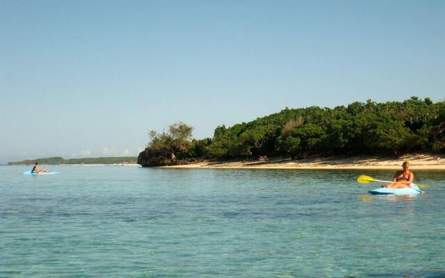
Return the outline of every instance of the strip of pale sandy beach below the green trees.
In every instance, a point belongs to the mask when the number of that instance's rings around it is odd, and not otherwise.
[[[267,161],[223,161],[165,168],[223,168],[223,169],[401,169],[403,161],[410,161],[412,170],[445,170],[444,154],[406,154],[390,156],[315,157],[298,161],[291,158],[270,158]]]

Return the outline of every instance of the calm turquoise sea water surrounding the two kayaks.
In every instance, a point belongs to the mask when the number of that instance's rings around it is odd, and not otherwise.
[[[445,277],[444,171],[48,167],[0,167],[0,277]]]

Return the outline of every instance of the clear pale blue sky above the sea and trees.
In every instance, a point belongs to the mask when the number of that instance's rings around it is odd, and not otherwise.
[[[0,163],[285,107],[445,100],[445,1],[0,0]]]

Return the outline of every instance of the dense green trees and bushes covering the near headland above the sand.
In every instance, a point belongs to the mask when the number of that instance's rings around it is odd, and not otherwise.
[[[149,131],[143,166],[180,165],[232,158],[445,152],[445,101],[412,97],[405,101],[353,102],[348,106],[285,108],[234,126],[218,126],[213,138],[192,138],[193,127],[179,122]]]

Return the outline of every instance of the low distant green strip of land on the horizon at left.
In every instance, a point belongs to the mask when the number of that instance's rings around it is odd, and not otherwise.
[[[70,158],[64,159],[60,156],[49,158],[26,159],[24,161],[8,162],[8,165],[33,165],[35,162],[48,165],[88,165],[88,164],[136,164],[137,157],[91,157],[91,158]]]

